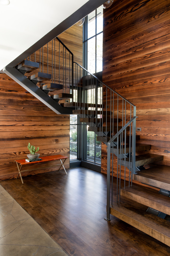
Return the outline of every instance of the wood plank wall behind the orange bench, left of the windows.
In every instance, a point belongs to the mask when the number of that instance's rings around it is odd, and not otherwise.
[[[82,28],[74,25],[60,39],[67,38],[67,34],[69,41],[65,44],[75,55],[78,52],[82,64]],[[56,154],[69,157],[69,115],[57,115],[6,74],[0,74],[0,92],[0,180],[17,176],[14,160],[27,157],[28,142],[39,146],[40,157]],[[52,165],[54,162],[46,163],[43,165],[46,168],[41,165],[42,169],[23,172],[22,176],[59,169]],[[69,166],[70,159],[67,159],[65,167]]]

